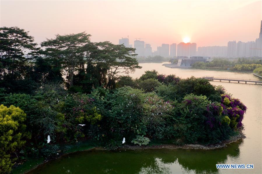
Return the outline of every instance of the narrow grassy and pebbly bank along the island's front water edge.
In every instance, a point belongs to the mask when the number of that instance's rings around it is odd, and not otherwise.
[[[235,136],[232,136],[230,139],[222,141],[220,143],[216,144],[210,144],[210,145],[201,145],[201,144],[185,144],[185,145],[174,145],[174,144],[166,144],[166,143],[152,143],[147,146],[130,146],[130,145],[124,145],[121,148],[118,148],[116,151],[121,152],[121,150],[144,150],[144,149],[202,149],[202,150],[213,150],[217,148],[225,148],[228,144],[236,142],[236,141],[242,141],[242,139],[245,138],[245,134],[243,133],[243,130],[238,131],[238,134]],[[50,158],[40,158],[40,159],[28,159],[23,164],[20,164],[16,168],[14,168],[11,173],[18,174],[18,173],[28,173],[31,170],[34,170],[38,166],[45,164],[51,160],[59,159],[65,155],[75,153],[75,152],[81,152],[81,151],[88,151],[88,150],[103,150],[106,149],[102,146],[85,146],[85,144],[90,144],[89,142],[78,142],[73,145],[71,145],[71,148],[65,151],[64,153],[58,153],[55,157]]]

